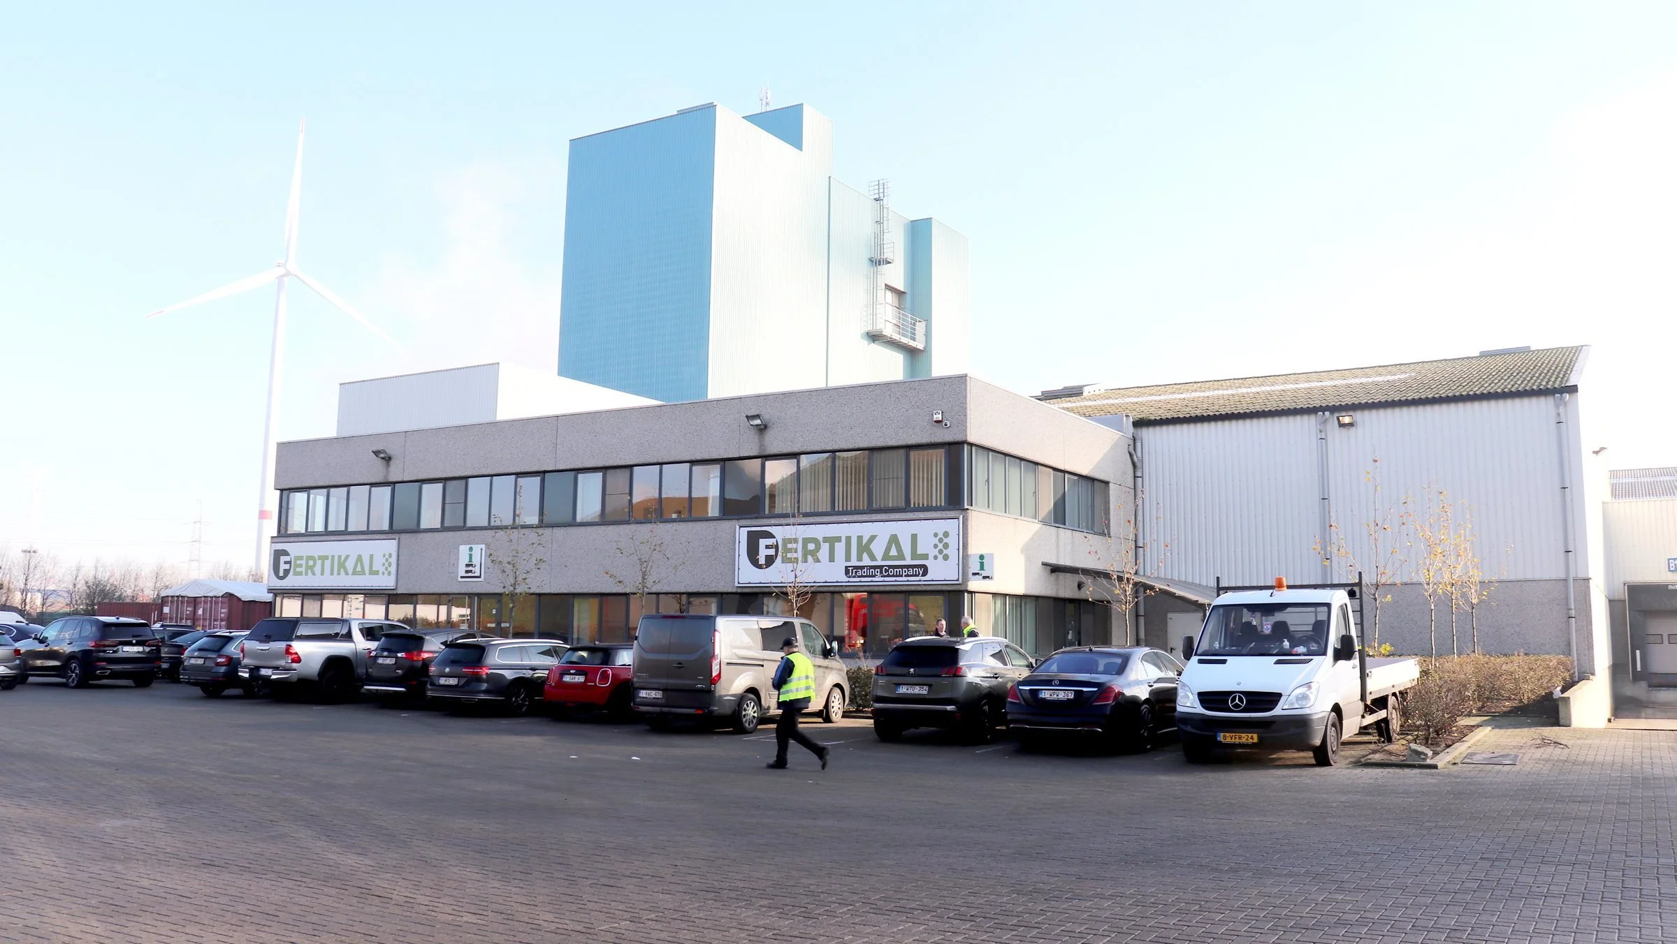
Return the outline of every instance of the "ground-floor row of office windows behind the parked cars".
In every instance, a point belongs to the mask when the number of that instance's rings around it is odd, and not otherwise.
[[[282,617],[386,619],[416,629],[454,627],[506,637],[558,639],[570,646],[632,642],[642,599],[624,594],[538,594],[510,605],[498,594],[280,594]],[[647,614],[793,615],[773,594],[649,594]],[[907,637],[927,635],[939,619],[949,630],[971,615],[979,632],[1031,656],[1063,646],[1115,641],[1107,607],[1088,600],[998,594],[810,594],[797,615],[820,627],[845,657],[882,659]]]

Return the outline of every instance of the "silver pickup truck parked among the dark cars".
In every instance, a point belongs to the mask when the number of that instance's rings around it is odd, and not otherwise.
[[[238,674],[277,696],[310,687],[324,701],[347,701],[367,679],[379,639],[406,629],[374,619],[270,617],[245,637]]]

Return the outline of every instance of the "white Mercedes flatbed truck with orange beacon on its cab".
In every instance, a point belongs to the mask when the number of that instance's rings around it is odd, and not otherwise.
[[[1333,766],[1348,734],[1397,738],[1402,692],[1420,664],[1363,651],[1352,615],[1362,610],[1360,580],[1218,590],[1199,639],[1182,641],[1176,726],[1189,763],[1256,748],[1311,751]]]

